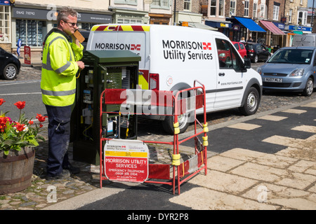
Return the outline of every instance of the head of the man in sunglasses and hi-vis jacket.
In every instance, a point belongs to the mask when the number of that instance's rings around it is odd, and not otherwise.
[[[71,36],[78,29],[77,12],[72,8],[62,8],[57,15],[57,23],[58,29]]]

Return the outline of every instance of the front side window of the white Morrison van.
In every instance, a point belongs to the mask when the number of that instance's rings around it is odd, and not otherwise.
[[[216,38],[216,47],[220,69],[241,70],[242,60],[239,58],[237,51],[232,47],[229,41]]]

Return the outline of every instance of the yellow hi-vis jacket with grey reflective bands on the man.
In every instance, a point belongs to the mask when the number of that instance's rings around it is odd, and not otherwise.
[[[46,36],[41,68],[41,93],[44,104],[70,106],[76,93],[76,61],[82,58],[84,47],[70,43],[67,34],[52,29]]]

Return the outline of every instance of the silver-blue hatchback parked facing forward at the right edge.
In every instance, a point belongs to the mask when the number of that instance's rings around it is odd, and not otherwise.
[[[316,78],[316,48],[280,48],[257,71],[263,80],[263,90],[303,92],[310,97]]]

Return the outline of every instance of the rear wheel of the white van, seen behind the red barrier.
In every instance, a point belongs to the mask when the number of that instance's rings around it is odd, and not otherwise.
[[[190,116],[190,113],[185,113],[178,116],[180,133],[185,132],[185,130],[187,130],[187,127],[189,127],[190,125],[189,116]],[[174,121],[174,116],[166,116],[166,119],[162,121],[162,127],[164,128],[164,131],[167,132],[168,134],[174,134],[173,121]]]

